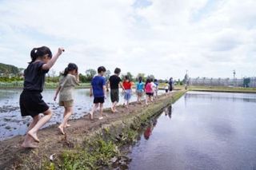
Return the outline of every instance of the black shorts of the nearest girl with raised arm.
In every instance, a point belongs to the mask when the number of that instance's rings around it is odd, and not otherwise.
[[[42,95],[40,92],[26,90],[23,90],[20,95],[19,106],[22,117],[36,117],[39,113],[44,113],[49,109],[46,102],[42,100]]]

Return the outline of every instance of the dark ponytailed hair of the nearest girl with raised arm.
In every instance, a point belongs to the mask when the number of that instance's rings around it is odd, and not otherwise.
[[[47,46],[32,49],[30,52],[31,61],[29,63],[36,61],[38,57],[43,57],[46,54],[48,54],[48,57],[50,58],[53,56],[53,54]]]

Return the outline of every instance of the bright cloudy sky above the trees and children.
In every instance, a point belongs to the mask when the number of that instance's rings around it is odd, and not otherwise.
[[[0,0],[0,62],[66,52],[54,65],[159,78],[256,76],[255,0]]]

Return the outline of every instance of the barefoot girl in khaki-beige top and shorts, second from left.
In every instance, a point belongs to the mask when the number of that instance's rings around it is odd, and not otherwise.
[[[60,78],[54,97],[54,101],[56,101],[59,93],[58,105],[65,108],[62,124],[58,126],[63,135],[65,135],[64,128],[70,126],[67,124],[67,121],[73,113],[73,91],[76,85],[79,85],[78,66],[70,63]]]

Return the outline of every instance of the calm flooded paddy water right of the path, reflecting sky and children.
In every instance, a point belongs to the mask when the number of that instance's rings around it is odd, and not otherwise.
[[[130,153],[129,168],[256,169],[255,99],[245,93],[186,93],[164,109],[154,132],[146,129]]]

